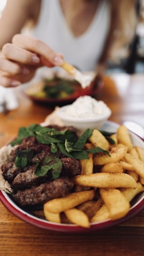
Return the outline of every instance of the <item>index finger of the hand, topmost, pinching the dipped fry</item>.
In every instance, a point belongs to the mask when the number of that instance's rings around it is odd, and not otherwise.
[[[13,37],[13,44],[27,51],[31,51],[36,55],[40,55],[42,57],[41,59],[45,61],[45,64],[47,64],[48,67],[63,65],[63,57],[61,57],[60,54],[55,53],[55,51],[53,51],[53,49],[48,47],[45,43],[34,39],[33,37],[29,37],[27,35],[15,35]]]

